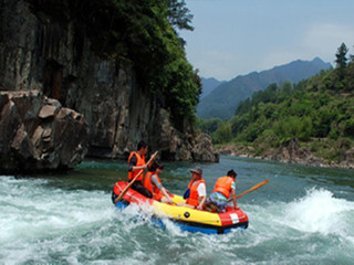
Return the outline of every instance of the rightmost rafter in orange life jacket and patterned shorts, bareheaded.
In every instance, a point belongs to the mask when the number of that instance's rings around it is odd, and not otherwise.
[[[230,194],[232,194],[235,210],[238,209],[235,183],[237,173],[231,169],[227,172],[227,176],[217,180],[215,188],[207,200],[207,211],[225,212]]]

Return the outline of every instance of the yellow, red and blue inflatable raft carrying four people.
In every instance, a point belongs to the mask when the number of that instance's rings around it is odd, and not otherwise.
[[[126,186],[126,181],[117,182],[116,186],[122,192]],[[175,203],[185,202],[183,197],[170,194]],[[175,204],[162,203],[148,199],[135,190],[129,189],[123,199],[116,203],[116,206],[124,209],[131,203],[139,205],[142,211],[148,209],[153,214],[153,219],[158,221],[167,218],[184,231],[201,232],[206,234],[225,234],[233,229],[247,229],[248,216],[241,210],[235,210],[227,206],[225,213],[210,213],[206,211],[195,210],[187,206],[178,206]]]

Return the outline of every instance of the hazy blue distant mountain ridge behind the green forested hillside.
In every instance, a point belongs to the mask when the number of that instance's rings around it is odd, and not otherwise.
[[[201,97],[197,115],[201,118],[231,118],[239,102],[247,99],[254,92],[266,89],[273,83],[279,84],[287,81],[296,83],[316,75],[321,70],[331,67],[330,63],[315,57],[312,61],[298,60],[260,73],[252,72],[248,75],[239,75],[219,85],[209,95]]]

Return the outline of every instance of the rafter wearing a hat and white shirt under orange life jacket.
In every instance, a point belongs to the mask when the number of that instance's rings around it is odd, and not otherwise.
[[[207,187],[205,180],[201,178],[202,169],[196,167],[190,169],[191,181],[188,184],[187,191],[184,198],[187,200],[186,203],[178,203],[177,205],[184,205],[201,210],[207,200]]]

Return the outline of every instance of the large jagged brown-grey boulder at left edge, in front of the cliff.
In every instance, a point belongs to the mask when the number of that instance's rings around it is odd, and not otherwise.
[[[81,114],[38,91],[0,92],[0,174],[72,169],[87,132]]]

